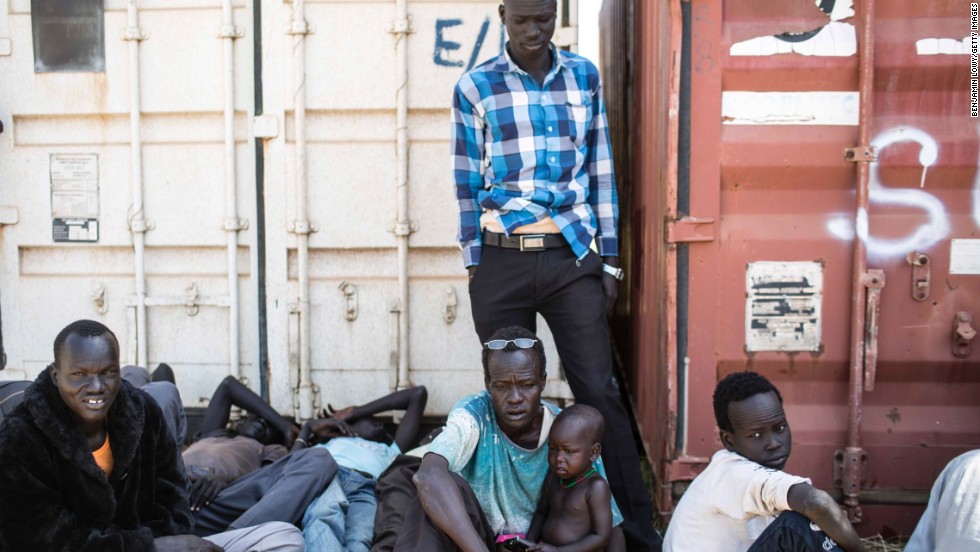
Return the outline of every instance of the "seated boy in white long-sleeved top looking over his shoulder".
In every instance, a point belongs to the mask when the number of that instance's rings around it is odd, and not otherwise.
[[[792,436],[779,390],[755,372],[718,382],[716,452],[681,497],[665,552],[863,552],[834,499],[783,470]]]

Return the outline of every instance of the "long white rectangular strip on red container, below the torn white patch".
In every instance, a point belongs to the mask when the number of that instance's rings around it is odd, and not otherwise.
[[[726,125],[857,126],[858,92],[747,92],[721,94]]]

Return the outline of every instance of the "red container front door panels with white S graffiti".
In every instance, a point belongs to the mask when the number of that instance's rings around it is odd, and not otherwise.
[[[785,400],[786,469],[838,495],[850,477],[859,530],[907,534],[944,464],[980,444],[968,14],[878,2],[862,114],[861,3],[683,4],[690,172],[671,229],[686,322],[668,464],[703,465],[721,448],[714,386],[754,370]],[[856,240],[867,271],[855,287]],[[855,301],[867,305],[859,318]]]

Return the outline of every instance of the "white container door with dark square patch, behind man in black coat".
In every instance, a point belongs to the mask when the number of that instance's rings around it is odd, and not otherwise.
[[[2,377],[90,318],[195,406],[258,380],[251,5],[131,4],[0,2]]]

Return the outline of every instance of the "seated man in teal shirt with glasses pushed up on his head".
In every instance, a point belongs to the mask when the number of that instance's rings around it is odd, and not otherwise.
[[[483,375],[486,390],[457,402],[429,445],[394,550],[494,550],[527,532],[559,411],[541,401],[544,347],[524,328],[498,330],[484,344]],[[596,467],[605,477],[601,460]]]

